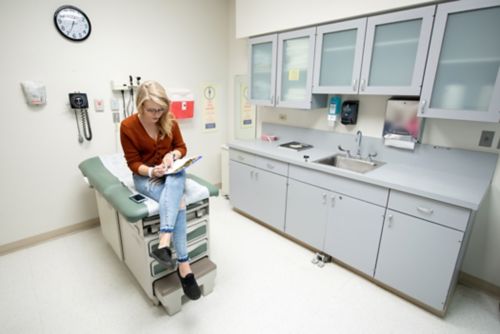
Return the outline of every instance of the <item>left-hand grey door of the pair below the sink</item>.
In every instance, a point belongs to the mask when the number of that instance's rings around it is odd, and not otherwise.
[[[317,249],[323,249],[330,192],[290,179],[285,232]]]

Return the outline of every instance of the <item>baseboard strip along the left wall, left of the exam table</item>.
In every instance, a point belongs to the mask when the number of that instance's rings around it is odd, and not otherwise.
[[[38,234],[29,238],[14,241],[5,245],[0,245],[0,255],[12,253],[17,250],[31,247],[39,243],[59,238],[67,234],[71,234],[82,230],[87,230],[89,228],[96,227],[97,225],[99,225],[99,218],[93,218],[78,224],[61,227],[56,230]]]

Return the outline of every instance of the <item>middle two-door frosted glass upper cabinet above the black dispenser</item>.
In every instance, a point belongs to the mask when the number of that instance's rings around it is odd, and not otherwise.
[[[429,6],[318,27],[313,91],[420,95],[434,11]]]

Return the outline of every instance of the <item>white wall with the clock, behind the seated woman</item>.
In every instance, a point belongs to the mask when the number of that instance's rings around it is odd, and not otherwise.
[[[56,31],[60,0],[0,2],[0,245],[97,217],[93,193],[78,164],[116,152],[110,80],[129,74],[168,87],[191,89],[196,116],[181,121],[192,153],[204,159],[193,172],[220,182],[220,145],[226,140],[227,0],[76,0],[92,22],[92,35],[72,43]],[[48,103],[28,107],[20,82],[45,83]],[[220,85],[219,130],[204,133],[200,85]],[[80,145],[68,93],[105,100],[89,110],[94,139]],[[121,96],[117,95],[120,98]]]

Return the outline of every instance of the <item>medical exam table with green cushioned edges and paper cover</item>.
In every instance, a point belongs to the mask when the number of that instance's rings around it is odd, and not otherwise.
[[[132,173],[121,154],[92,157],[78,166],[94,189],[101,231],[118,258],[139,282],[155,305],[169,315],[180,311],[183,291],[175,269],[168,270],[151,257],[158,247],[158,203],[135,203]],[[216,265],[210,260],[209,197],[218,196],[214,185],[192,174],[186,180],[188,253],[202,294],[212,292]],[[175,249],[173,249],[175,258]]]

